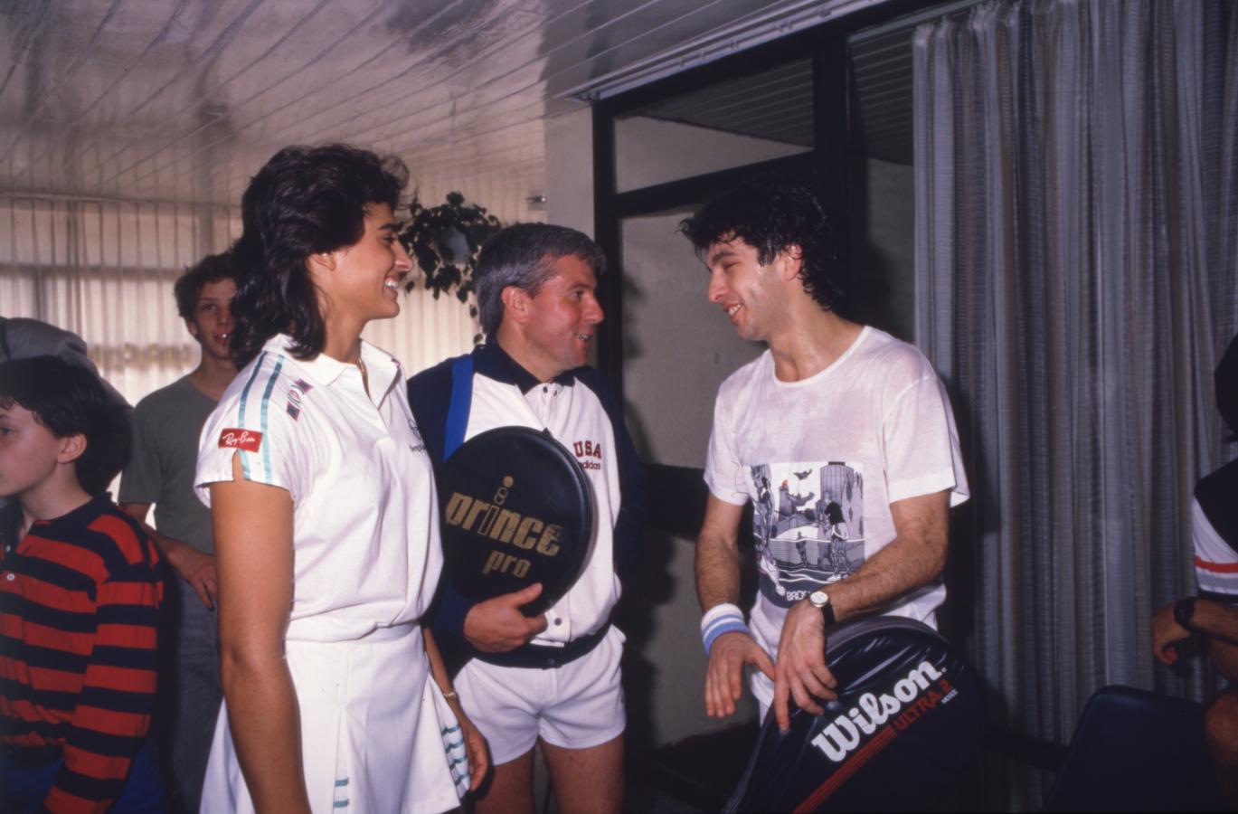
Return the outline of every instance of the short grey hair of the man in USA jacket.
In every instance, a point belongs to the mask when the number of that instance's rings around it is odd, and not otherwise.
[[[517,223],[503,229],[482,247],[473,273],[482,331],[494,336],[503,323],[503,290],[514,285],[537,296],[560,258],[588,263],[595,276],[607,270],[602,249],[583,232],[552,223]]]

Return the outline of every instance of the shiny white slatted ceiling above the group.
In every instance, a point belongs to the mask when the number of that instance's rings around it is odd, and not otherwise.
[[[543,123],[878,0],[0,0],[0,192],[236,203],[279,147],[542,171]]]

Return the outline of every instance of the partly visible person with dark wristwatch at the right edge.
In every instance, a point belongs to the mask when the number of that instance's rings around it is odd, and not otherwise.
[[[1238,336],[1229,342],[1214,375],[1217,410],[1238,440]],[[1153,617],[1153,653],[1165,664],[1177,660],[1177,642],[1203,639],[1212,667],[1238,685],[1238,460],[1200,479],[1191,501],[1196,596],[1166,605]],[[1238,686],[1208,705],[1203,717],[1208,751],[1222,794],[1238,807]]]

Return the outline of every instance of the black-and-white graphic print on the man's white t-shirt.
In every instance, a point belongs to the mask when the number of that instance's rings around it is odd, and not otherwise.
[[[749,475],[758,586],[766,600],[790,607],[864,562],[858,463],[761,463]]]

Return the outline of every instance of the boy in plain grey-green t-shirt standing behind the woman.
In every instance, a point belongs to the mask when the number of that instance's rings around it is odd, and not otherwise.
[[[132,455],[120,481],[123,510],[145,523],[155,504],[151,536],[180,577],[167,579],[161,643],[170,647],[161,648],[166,658],[155,737],[173,809],[182,812],[198,810],[223,696],[210,510],[193,494],[193,473],[202,425],[236,375],[228,356],[235,294],[227,254],[203,259],[176,281],[177,310],[202,347],[202,362],[137,403]]]

